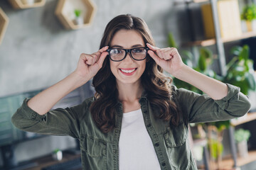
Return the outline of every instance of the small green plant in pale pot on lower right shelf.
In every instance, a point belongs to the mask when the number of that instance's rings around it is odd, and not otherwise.
[[[238,154],[240,157],[248,157],[247,142],[250,137],[250,131],[242,128],[235,130],[235,141],[238,144]]]

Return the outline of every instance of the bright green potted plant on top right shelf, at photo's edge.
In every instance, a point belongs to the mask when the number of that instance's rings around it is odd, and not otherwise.
[[[242,10],[240,17],[241,17],[241,20],[244,21],[244,22],[242,22],[242,25],[246,25],[248,32],[250,32],[252,30],[256,30],[256,6],[255,6],[255,4],[250,4],[250,5],[245,6]]]

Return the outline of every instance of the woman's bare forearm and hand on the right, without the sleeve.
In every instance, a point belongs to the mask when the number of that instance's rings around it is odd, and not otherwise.
[[[228,86],[226,84],[196,72],[196,70],[183,64],[176,48],[160,49],[149,44],[148,47],[150,49],[149,55],[156,61],[156,64],[159,64],[166,72],[169,72],[177,79],[196,86],[196,88],[208,94],[214,100],[219,100],[228,95]]]

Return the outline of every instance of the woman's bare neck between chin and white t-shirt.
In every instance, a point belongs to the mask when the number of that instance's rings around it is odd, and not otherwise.
[[[133,84],[117,83],[117,90],[119,93],[119,101],[135,101],[142,96],[143,87],[141,81]]]

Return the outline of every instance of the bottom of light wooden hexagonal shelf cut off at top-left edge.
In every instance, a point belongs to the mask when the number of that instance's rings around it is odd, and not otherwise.
[[[46,4],[46,0],[34,0],[31,4],[28,4],[28,0],[9,0],[11,6],[14,8],[36,8],[39,6],[44,6]]]

